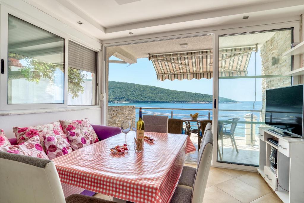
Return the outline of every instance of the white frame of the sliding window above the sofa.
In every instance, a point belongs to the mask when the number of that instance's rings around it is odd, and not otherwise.
[[[44,29],[47,32],[50,32],[54,35],[57,35],[64,39],[64,103],[61,104],[8,104],[8,16],[13,15],[19,19],[22,19],[28,23],[37,26],[38,28]],[[101,49],[87,46],[79,41],[74,40],[74,37],[63,33],[53,27],[48,26],[47,24],[40,22],[37,19],[33,19],[25,14],[18,12],[17,10],[10,9],[4,5],[0,7],[0,59],[4,60],[4,74],[0,73],[0,111],[7,110],[26,110],[26,109],[50,109],[50,108],[61,108],[61,109],[70,109],[73,107],[85,106],[86,108],[96,108],[99,107],[98,102],[98,81],[100,80],[99,68],[100,68],[100,53]],[[67,95],[68,95],[68,41],[71,40],[75,43],[78,43],[82,46],[85,46],[91,50],[97,52],[96,56],[96,73],[95,73],[95,105],[67,105]]]

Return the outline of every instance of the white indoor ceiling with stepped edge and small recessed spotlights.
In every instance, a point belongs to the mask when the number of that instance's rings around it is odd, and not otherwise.
[[[100,40],[299,16],[303,0],[23,0]],[[244,15],[249,19],[242,20]],[[76,22],[84,24],[79,25]],[[129,35],[133,32],[133,35]]]

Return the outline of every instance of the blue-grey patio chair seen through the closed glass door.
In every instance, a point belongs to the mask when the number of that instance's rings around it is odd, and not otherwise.
[[[223,138],[230,138],[232,147],[235,148],[235,150],[237,151],[237,153],[239,153],[239,150],[237,149],[237,143],[235,142],[235,138],[234,138],[234,132],[235,129],[237,128],[237,121],[239,121],[240,118],[233,118],[233,119],[228,119],[226,121],[232,121],[232,122],[227,122],[227,123],[223,123],[223,133],[219,134],[219,139],[222,140],[222,154],[224,153],[223,150]],[[230,126],[230,130],[227,130],[225,126]]]

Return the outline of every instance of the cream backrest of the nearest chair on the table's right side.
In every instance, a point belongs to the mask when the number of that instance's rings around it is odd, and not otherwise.
[[[213,135],[211,130],[206,130],[199,153],[198,167],[195,173],[192,190],[192,203],[203,202],[209,170],[211,166],[213,149]]]

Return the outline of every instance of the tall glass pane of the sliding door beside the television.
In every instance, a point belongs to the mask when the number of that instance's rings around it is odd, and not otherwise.
[[[291,85],[292,29],[219,37],[218,162],[259,165],[258,127],[265,123],[265,90]]]

